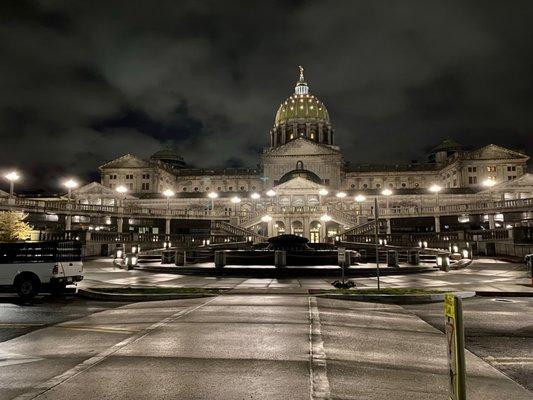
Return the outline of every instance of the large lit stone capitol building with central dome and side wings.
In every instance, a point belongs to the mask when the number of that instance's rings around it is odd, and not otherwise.
[[[149,159],[122,155],[99,167],[100,183],[79,187],[72,195],[82,204],[123,204],[163,215],[125,218],[114,228],[119,231],[190,232],[197,216],[202,221],[225,221],[242,232],[294,233],[321,242],[363,226],[373,217],[375,199],[382,215],[394,217],[406,209],[531,197],[533,192],[526,174],[529,157],[495,144],[466,149],[448,139],[427,154],[426,162],[347,162],[336,142],[334,121],[301,67],[293,92],[279,105],[270,131],[265,131],[265,145],[258,168],[193,168],[171,148]],[[390,218],[385,229],[439,232],[465,222],[464,216],[461,222],[460,215],[433,214],[409,215],[409,223]],[[180,222],[180,216],[188,221]],[[487,222],[480,218],[469,222]],[[512,218],[505,224],[523,223],[524,216]],[[497,219],[489,222],[491,228],[498,226]]]

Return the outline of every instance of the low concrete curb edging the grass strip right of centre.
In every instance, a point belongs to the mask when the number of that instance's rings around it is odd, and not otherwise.
[[[452,292],[461,299],[474,297],[476,292]],[[445,293],[394,295],[394,294],[322,294],[317,297],[336,300],[366,301],[372,303],[417,304],[444,301]]]

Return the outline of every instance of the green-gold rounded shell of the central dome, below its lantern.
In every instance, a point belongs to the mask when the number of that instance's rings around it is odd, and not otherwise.
[[[292,123],[293,120],[321,120],[329,123],[328,110],[324,104],[312,94],[293,94],[285,100],[276,113],[275,125]]]

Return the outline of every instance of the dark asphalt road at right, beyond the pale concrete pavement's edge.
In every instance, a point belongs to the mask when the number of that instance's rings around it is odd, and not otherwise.
[[[444,330],[442,304],[404,306]],[[533,391],[533,298],[463,301],[466,348]]]

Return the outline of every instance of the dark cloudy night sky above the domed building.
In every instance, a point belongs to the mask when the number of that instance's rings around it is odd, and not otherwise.
[[[451,137],[533,154],[533,2],[0,3],[0,170],[97,177],[165,145],[255,166],[303,65],[352,163]]]

